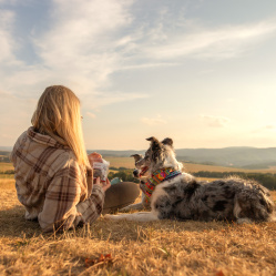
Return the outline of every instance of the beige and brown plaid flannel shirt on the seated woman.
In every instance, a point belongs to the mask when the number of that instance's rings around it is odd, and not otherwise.
[[[33,127],[21,134],[11,153],[18,200],[25,218],[38,218],[44,232],[92,223],[101,214],[104,192],[69,146]]]

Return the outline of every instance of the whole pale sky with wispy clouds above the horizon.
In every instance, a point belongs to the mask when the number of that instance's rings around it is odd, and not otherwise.
[[[0,145],[49,85],[89,150],[276,146],[275,0],[0,0]]]

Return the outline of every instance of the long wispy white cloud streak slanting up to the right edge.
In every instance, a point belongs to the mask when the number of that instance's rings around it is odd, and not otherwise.
[[[222,25],[214,29],[191,27],[193,32],[166,33],[166,39],[157,45],[150,43],[143,48],[146,55],[156,60],[185,58],[228,59],[248,50],[252,43],[275,35],[276,21],[252,24]]]

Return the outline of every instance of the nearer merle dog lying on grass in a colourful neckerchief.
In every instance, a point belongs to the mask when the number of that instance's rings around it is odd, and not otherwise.
[[[177,162],[173,140],[151,142],[144,157],[136,157],[140,177],[147,182],[142,191],[151,202],[150,212],[105,215],[111,219],[151,222],[228,221],[242,223],[275,222],[275,206],[269,191],[253,180],[228,177],[202,182],[183,172]]]

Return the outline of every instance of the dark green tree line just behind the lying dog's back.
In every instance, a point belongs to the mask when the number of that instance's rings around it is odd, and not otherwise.
[[[276,174],[272,173],[244,173],[244,172],[207,172],[200,171],[193,173],[197,177],[223,178],[228,176],[238,176],[246,180],[255,180],[269,190],[276,190]]]

